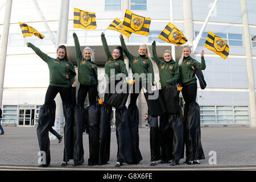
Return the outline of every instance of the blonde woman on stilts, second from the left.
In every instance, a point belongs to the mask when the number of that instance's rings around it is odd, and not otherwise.
[[[82,133],[84,129],[84,102],[88,93],[89,110],[89,159],[88,165],[98,164],[99,152],[99,122],[98,117],[100,109],[96,106],[96,97],[98,95],[98,73],[97,65],[94,63],[94,53],[91,48],[85,47],[81,52],[79,39],[76,33],[73,33],[73,39],[76,47],[77,74],[79,80],[79,92],[77,94],[77,104],[74,109],[74,166],[84,163],[84,147],[82,144]]]

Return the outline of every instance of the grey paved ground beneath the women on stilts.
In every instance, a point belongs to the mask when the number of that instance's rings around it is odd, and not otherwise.
[[[35,127],[4,127],[5,135],[0,135],[0,171],[38,168],[38,140]],[[200,165],[184,164],[171,167],[169,164],[157,164],[150,167],[150,129],[139,129],[140,150],[143,160],[140,164],[124,164],[121,168],[114,168],[117,141],[115,134],[111,135],[110,161],[104,166],[88,167],[89,149],[88,135],[84,134],[84,159],[81,166],[73,167],[73,161],[67,167],[60,167],[63,158],[64,142],[58,144],[58,140],[51,140],[51,165],[48,168],[53,170],[256,170],[256,128],[250,127],[209,127],[201,128],[201,138],[205,154],[205,160]],[[63,130],[62,130],[63,133]],[[209,164],[210,151],[215,151],[217,164]],[[212,161],[212,160],[211,160]]]

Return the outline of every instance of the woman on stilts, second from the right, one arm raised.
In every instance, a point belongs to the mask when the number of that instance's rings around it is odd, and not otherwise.
[[[179,66],[172,59],[171,51],[164,51],[164,61],[160,60],[156,53],[156,43],[152,43],[152,52],[155,63],[158,65],[160,84],[164,96],[168,96],[169,88],[177,89],[177,80],[179,80]],[[172,102],[166,99],[165,102]],[[160,116],[160,163],[167,163],[172,159],[171,166],[179,164],[183,147],[183,119],[182,111],[177,105],[174,111]],[[159,159],[159,158],[158,158]],[[152,163],[152,162],[151,162]]]

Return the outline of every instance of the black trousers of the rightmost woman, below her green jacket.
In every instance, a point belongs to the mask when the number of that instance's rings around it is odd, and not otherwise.
[[[183,85],[181,90],[182,96],[186,104],[196,102],[197,84]]]

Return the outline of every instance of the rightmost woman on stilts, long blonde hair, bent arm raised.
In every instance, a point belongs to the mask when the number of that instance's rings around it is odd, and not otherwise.
[[[191,56],[191,48],[183,47],[183,53],[179,60],[180,79],[179,86],[184,104],[184,142],[187,164],[200,164],[200,159],[205,159],[201,144],[200,129],[200,107],[196,102],[197,82],[195,69],[204,70],[206,68],[204,60],[204,50],[201,51],[201,63]]]

